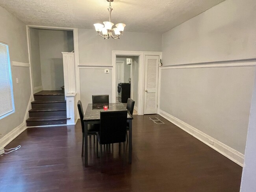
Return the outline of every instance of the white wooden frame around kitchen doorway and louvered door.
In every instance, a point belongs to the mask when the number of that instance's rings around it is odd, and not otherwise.
[[[139,82],[138,82],[138,114],[144,114],[144,79],[145,79],[145,55],[159,55],[162,58],[162,52],[143,52],[143,51],[112,51],[112,102],[115,103],[116,91],[115,91],[115,63],[117,56],[139,56]]]

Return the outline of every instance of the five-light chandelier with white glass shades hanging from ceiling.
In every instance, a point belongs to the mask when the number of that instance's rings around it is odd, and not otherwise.
[[[109,7],[108,7],[108,11],[109,11],[109,22],[108,21],[104,21],[103,24],[100,23],[96,23],[94,24],[95,26],[95,30],[97,31],[97,35],[100,35],[101,37],[103,37],[104,39],[108,39],[109,37],[112,37],[113,39],[119,39],[119,36],[122,35],[122,32],[124,31],[124,27],[125,24],[123,23],[118,23],[116,24],[116,28],[112,29],[112,26],[114,25],[113,23],[111,23],[111,11],[113,10],[111,8],[111,2],[113,2],[114,0],[107,0],[107,2],[109,2]],[[102,33],[102,35],[100,34],[100,32]],[[113,32],[115,33],[115,35],[113,34]]]

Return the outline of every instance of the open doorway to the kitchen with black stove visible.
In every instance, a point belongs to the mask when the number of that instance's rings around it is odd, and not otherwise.
[[[126,105],[127,99],[131,98],[135,101],[133,114],[138,114],[139,56],[117,55],[115,76],[116,102]]]

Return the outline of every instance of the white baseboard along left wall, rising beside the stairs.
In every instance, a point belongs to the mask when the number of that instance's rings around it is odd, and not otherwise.
[[[33,94],[30,95],[30,100],[28,101],[28,106],[27,106],[22,124],[15,127],[12,131],[7,133],[4,137],[0,138],[0,146],[2,147],[7,146],[13,139],[15,139],[18,135],[20,135],[20,133],[22,133],[28,128],[26,126],[26,119],[28,118],[28,111],[31,109],[30,103],[32,102],[32,100],[33,100]]]

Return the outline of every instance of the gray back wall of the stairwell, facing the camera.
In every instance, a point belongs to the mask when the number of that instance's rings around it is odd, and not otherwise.
[[[72,31],[39,30],[42,85],[44,90],[60,90],[64,85],[61,52],[74,50]]]

